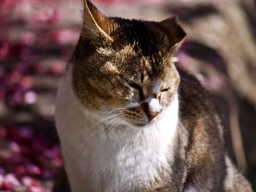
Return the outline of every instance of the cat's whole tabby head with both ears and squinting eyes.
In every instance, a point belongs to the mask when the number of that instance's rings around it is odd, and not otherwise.
[[[173,58],[186,33],[162,22],[107,18],[84,0],[72,85],[87,110],[143,126],[170,106],[180,81]],[[115,116],[113,116],[115,117]]]

